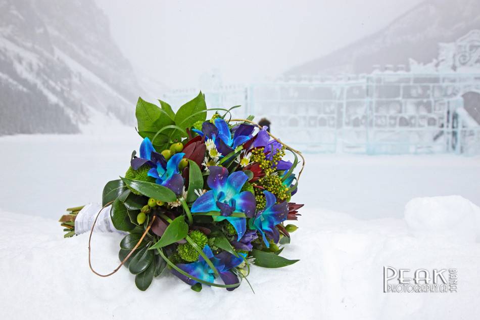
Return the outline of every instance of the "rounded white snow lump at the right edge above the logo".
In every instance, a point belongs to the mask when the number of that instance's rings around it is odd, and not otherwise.
[[[419,238],[475,242],[480,208],[461,196],[414,198],[405,206],[405,220]]]

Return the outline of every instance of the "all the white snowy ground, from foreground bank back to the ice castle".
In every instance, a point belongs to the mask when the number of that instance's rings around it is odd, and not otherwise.
[[[140,292],[123,267],[109,278],[95,276],[88,234],[64,239],[57,220],[66,207],[100,202],[103,185],[123,174],[139,142],[133,129],[0,138],[0,318],[471,319],[480,313],[480,244],[473,238],[479,158],[307,154],[293,198],[306,206],[282,253],[301,260],[280,269],[253,267],[255,294],[246,283],[199,294],[169,274]],[[429,198],[450,195],[459,196]],[[96,270],[118,265],[120,239],[94,234]],[[457,268],[458,292],[383,293],[387,265]]]

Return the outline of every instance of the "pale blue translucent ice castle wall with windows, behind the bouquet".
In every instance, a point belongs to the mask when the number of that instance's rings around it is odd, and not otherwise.
[[[429,64],[374,66],[370,74],[291,76],[223,85],[217,72],[200,87],[209,106],[242,104],[309,152],[480,154],[480,30],[439,44]],[[173,105],[194,89],[165,95]]]

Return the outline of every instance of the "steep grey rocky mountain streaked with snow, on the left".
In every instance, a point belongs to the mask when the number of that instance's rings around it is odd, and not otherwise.
[[[132,124],[141,94],[93,0],[0,0],[0,135]]]

